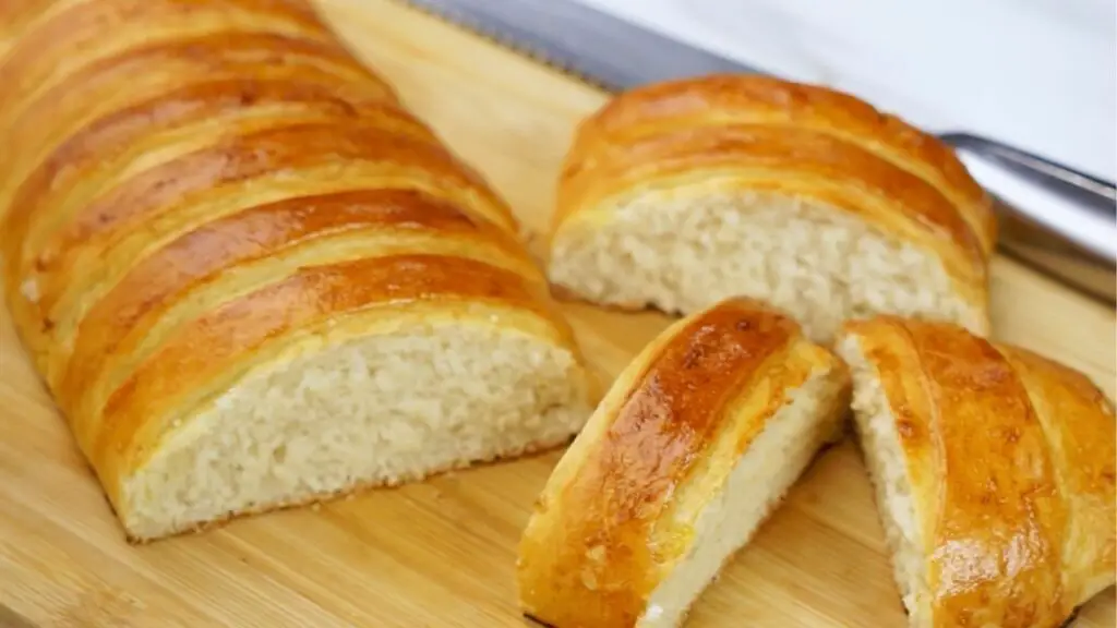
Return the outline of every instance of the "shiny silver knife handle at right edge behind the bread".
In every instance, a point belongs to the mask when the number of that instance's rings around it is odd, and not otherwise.
[[[967,133],[941,136],[996,200],[1005,253],[1117,303],[1117,188],[1110,181]]]

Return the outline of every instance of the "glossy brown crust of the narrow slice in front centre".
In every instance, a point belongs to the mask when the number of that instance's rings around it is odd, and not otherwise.
[[[618,377],[536,502],[519,548],[525,612],[633,626],[787,391],[833,368],[796,323],[752,299],[668,327]]]

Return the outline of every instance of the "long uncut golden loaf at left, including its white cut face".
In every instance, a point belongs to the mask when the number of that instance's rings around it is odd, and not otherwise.
[[[133,540],[564,443],[506,204],[303,0],[0,7],[3,279]]]

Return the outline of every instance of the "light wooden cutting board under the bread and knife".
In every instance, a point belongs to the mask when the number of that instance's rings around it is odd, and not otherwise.
[[[604,95],[392,0],[322,6],[525,227],[541,231],[573,125]],[[993,307],[1000,339],[1079,368],[1114,396],[1111,308],[1004,259],[995,263]],[[668,322],[584,305],[566,312],[605,377]],[[133,548],[6,313],[0,408],[0,627],[527,625],[516,608],[515,546],[557,453]],[[1077,626],[1113,627],[1114,609],[1110,589]],[[689,626],[905,626],[851,444],[813,465]]]

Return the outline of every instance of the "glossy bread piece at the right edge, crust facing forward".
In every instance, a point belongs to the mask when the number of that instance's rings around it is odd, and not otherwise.
[[[1113,402],[945,323],[850,323],[861,447],[915,628],[1056,628],[1114,583]]]

